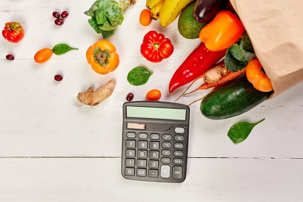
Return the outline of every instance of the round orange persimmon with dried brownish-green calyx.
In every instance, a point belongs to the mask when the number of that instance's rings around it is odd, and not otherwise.
[[[98,74],[107,74],[117,69],[120,59],[116,47],[106,40],[95,42],[86,51],[86,60]]]

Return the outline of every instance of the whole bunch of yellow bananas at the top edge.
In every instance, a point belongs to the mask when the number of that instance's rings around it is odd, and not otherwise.
[[[152,19],[160,18],[161,27],[166,27],[191,1],[193,0],[146,0],[146,7],[151,10]]]

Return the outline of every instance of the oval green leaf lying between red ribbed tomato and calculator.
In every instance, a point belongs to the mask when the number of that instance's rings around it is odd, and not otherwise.
[[[152,72],[144,67],[136,67],[132,69],[128,75],[127,80],[130,84],[139,86],[145,84],[151,77]]]

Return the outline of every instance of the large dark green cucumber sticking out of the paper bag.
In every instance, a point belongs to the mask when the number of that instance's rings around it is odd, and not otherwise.
[[[209,93],[201,102],[201,113],[214,120],[238,116],[267,100],[273,92],[261,92],[244,76]]]

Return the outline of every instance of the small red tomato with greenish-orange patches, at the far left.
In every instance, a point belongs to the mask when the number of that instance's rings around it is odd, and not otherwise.
[[[18,43],[23,39],[24,30],[18,22],[7,22],[2,30],[2,35],[7,41]]]

